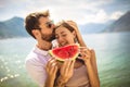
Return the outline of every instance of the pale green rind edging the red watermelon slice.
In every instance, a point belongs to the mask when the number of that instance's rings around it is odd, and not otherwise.
[[[77,46],[77,47],[79,48],[79,44],[74,44],[74,45],[68,45],[68,46]],[[66,46],[66,47],[68,47],[68,46]],[[61,59],[61,58],[56,57],[56,55],[52,52],[52,50],[49,50],[49,53],[50,53],[52,57],[54,57],[56,60],[58,60],[58,61],[65,61],[65,59]],[[73,58],[70,58],[70,60],[75,60],[75,59],[78,57],[78,54],[79,54],[79,52],[77,52]]]

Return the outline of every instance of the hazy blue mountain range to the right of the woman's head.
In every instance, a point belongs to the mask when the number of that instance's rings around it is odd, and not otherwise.
[[[104,24],[79,25],[79,30],[81,34],[130,32],[130,11],[117,21],[109,21]]]

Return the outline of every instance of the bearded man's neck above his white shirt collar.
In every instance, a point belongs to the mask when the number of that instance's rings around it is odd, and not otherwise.
[[[50,41],[42,40],[42,42],[38,42],[37,47],[41,50],[50,50],[52,48],[52,44]]]

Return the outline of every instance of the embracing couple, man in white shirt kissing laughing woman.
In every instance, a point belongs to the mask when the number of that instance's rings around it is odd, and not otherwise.
[[[26,59],[26,69],[39,87],[100,87],[94,50],[86,47],[75,22],[54,25],[46,11],[27,15],[25,27],[37,40]],[[75,42],[82,47],[81,57],[76,60],[61,63],[48,52],[57,45],[64,47]]]

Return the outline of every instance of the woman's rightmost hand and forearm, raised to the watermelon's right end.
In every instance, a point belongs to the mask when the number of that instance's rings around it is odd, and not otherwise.
[[[81,47],[80,53],[81,59],[84,61],[84,64],[87,65],[91,87],[100,87],[100,79],[98,75],[94,50]]]

